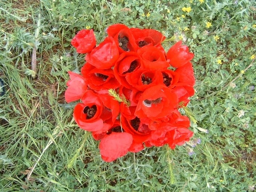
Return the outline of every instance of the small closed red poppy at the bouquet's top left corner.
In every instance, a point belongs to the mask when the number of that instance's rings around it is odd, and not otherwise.
[[[93,30],[80,30],[71,40],[71,44],[78,53],[89,53],[96,45],[96,38]]]

